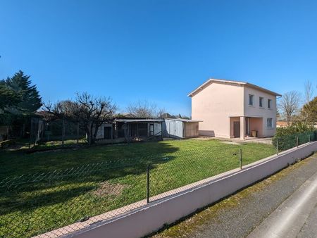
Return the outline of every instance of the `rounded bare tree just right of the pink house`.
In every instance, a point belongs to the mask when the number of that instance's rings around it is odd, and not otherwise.
[[[299,111],[301,96],[299,92],[287,92],[280,99],[279,108],[286,118],[287,124],[290,124],[294,115]]]

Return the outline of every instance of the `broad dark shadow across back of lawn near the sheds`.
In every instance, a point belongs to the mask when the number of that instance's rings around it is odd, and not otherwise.
[[[0,180],[30,173],[49,173],[91,163],[123,161],[127,158],[161,156],[178,151],[159,142],[93,146],[75,150],[46,151],[25,154],[23,151],[0,151]]]

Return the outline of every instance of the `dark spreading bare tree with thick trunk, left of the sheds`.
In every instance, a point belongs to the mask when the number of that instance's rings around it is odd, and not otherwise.
[[[66,119],[79,123],[85,130],[89,144],[96,141],[98,128],[113,118],[116,105],[110,98],[94,97],[87,92],[77,93],[75,101],[59,101],[56,104],[45,105],[51,118]]]

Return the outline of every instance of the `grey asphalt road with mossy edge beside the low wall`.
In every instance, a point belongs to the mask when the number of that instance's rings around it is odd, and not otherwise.
[[[280,171],[267,180],[242,190],[229,199],[193,215],[154,237],[205,238],[247,237],[248,235],[257,237],[254,234],[257,234],[258,237],[260,234],[263,235],[262,237],[270,237],[270,234],[271,237],[283,237],[278,235],[286,235],[287,232],[275,234],[275,230],[271,233],[265,233],[266,229],[263,229],[263,226],[267,225],[267,228],[268,224],[275,225],[278,230],[279,224],[287,224],[288,219],[292,224],[288,224],[288,227],[284,225],[282,228],[282,230],[287,231],[287,228],[292,229],[294,228],[292,225],[299,222],[299,215],[302,216],[300,224],[297,224],[295,229],[296,232],[289,234],[295,235],[295,237],[317,237],[317,199],[314,197],[317,186],[313,185],[316,185],[316,182],[317,154]],[[310,196],[306,196],[304,199],[301,194],[309,191],[311,191]],[[302,202],[297,203],[298,199]],[[286,203],[287,201],[289,203]],[[309,206],[307,206],[308,203]],[[277,211],[282,214],[281,211],[287,209],[287,206],[293,206],[293,211],[297,208],[302,210],[299,213],[292,213],[292,215],[285,212],[286,215],[283,213],[284,217],[278,220]],[[292,218],[290,218],[291,216]],[[268,223],[270,220],[271,223]],[[262,233],[255,233],[259,230]]]

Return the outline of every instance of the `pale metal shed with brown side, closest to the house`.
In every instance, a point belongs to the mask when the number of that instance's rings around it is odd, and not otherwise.
[[[166,118],[164,125],[165,137],[184,139],[198,137],[199,135],[199,120]]]

